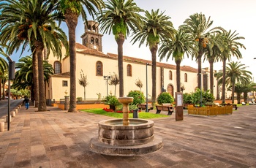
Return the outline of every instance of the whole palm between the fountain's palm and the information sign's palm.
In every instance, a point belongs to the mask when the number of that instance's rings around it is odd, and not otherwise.
[[[170,21],[170,17],[164,15],[164,12],[159,12],[159,9],[151,12],[145,11],[145,17],[143,17],[142,31],[136,29],[133,34],[132,41],[140,41],[139,47],[146,41],[149,50],[151,51],[152,58],[152,103],[154,104],[157,99],[157,49],[159,42],[165,38],[173,38],[173,34],[176,31],[173,28],[173,23]]]

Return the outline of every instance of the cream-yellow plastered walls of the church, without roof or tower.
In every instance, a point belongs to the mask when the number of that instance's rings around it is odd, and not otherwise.
[[[49,57],[48,62],[53,64],[57,58],[53,56]],[[96,76],[96,63],[101,61],[103,64],[103,75],[113,75],[116,73],[118,75],[118,64],[116,58],[91,56],[89,54],[77,52],[76,54],[76,97],[82,97],[84,99],[84,88],[79,84],[78,79],[80,78],[81,69],[84,75],[87,75],[87,80],[89,85],[86,86],[86,99],[98,99],[97,93],[101,93],[101,99],[107,95],[107,85],[106,80],[103,76]],[[127,64],[132,65],[132,77],[127,77]],[[69,58],[64,58],[61,60],[61,68],[63,72],[69,72]],[[169,70],[173,72],[173,80],[169,80]],[[184,82],[184,73],[187,73],[187,82]],[[208,73],[208,72],[207,72]],[[170,83],[173,85],[173,93],[176,92],[176,69],[164,69],[164,88],[167,89],[167,85]],[[135,85],[136,80],[140,79],[143,83],[142,91],[146,96],[146,64],[140,62],[130,62],[124,60],[124,96],[127,96],[129,91],[140,90]],[[62,81],[67,80],[68,86],[62,86]],[[209,77],[208,77],[209,80]],[[202,80],[203,81],[203,80]],[[208,81],[210,83],[210,81]],[[217,81],[214,80],[215,85]],[[161,93],[161,68],[157,67],[157,96]],[[197,72],[183,72],[181,71],[181,84],[185,86],[184,93],[191,93],[195,91],[197,87]],[[209,84],[208,84],[209,85]],[[68,77],[51,77],[49,86],[46,87],[46,99],[64,99],[65,91],[67,90],[67,95],[69,96],[69,86],[70,81]],[[148,66],[148,99],[151,99],[152,92],[152,78],[151,78],[151,66]],[[209,86],[208,86],[209,88]],[[217,95],[217,87],[214,88],[214,96]],[[108,93],[115,94],[115,86],[108,85]],[[116,86],[116,96],[119,93],[119,85]],[[229,96],[230,93],[227,93]]]

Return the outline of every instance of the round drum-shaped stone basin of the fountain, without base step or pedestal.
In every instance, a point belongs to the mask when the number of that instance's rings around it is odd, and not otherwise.
[[[99,122],[99,142],[109,145],[142,145],[154,140],[154,122],[129,119],[129,126],[123,126],[121,119]]]

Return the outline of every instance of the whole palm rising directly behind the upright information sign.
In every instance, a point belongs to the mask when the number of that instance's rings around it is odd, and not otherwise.
[[[176,62],[176,85],[177,92],[181,91],[181,61],[184,59],[184,54],[187,57],[195,56],[197,52],[197,45],[193,37],[181,29],[175,34],[173,39],[165,40],[159,48],[160,61],[166,58],[166,61],[172,56]]]

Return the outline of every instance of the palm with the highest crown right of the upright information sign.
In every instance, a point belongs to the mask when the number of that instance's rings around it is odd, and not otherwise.
[[[194,39],[197,41],[198,75],[200,76],[202,75],[202,56],[208,44],[208,36],[210,31],[208,31],[208,29],[213,23],[213,21],[210,19],[211,17],[206,19],[206,16],[202,13],[195,13],[194,15],[190,15],[189,18],[184,21],[184,25],[180,26],[180,28],[183,28],[185,32],[192,34]],[[202,78],[197,77],[197,80],[197,87],[202,89]]]

